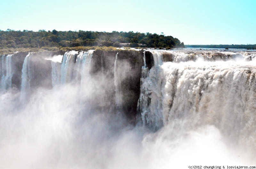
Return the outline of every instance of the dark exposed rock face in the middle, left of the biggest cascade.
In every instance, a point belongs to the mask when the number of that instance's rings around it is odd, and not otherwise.
[[[142,51],[94,51],[93,53],[92,75],[99,74],[99,72],[104,74],[109,83],[106,89],[111,95],[108,98],[109,104],[120,104],[117,105],[118,109],[125,112],[130,119],[134,119],[137,114],[142,66]],[[118,83],[117,88],[113,88],[116,85],[115,80]],[[116,103],[115,99],[118,93],[121,95],[120,103]]]

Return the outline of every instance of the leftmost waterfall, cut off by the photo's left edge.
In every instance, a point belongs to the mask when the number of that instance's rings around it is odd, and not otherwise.
[[[0,89],[5,91],[12,86],[12,56],[0,55]]]

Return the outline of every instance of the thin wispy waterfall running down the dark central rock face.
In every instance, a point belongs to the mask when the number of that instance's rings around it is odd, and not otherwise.
[[[117,55],[116,53],[116,60],[114,63],[114,83],[115,83],[115,91],[116,91],[116,107],[118,108],[121,103],[122,103],[122,93],[121,93],[121,81],[118,76],[118,71],[117,71]]]

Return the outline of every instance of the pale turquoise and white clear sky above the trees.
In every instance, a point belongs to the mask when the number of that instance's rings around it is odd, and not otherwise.
[[[256,0],[0,0],[0,30],[164,33],[185,45],[256,44]]]

